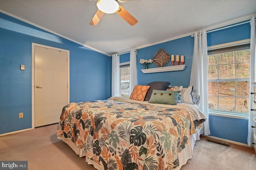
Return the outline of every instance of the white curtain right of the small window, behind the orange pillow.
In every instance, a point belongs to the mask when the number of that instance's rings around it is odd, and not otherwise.
[[[130,51],[130,84],[129,84],[129,96],[132,94],[134,86],[137,84],[137,68],[136,68],[136,50]]]

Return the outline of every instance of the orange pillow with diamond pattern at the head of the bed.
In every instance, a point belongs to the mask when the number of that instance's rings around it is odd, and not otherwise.
[[[150,86],[136,85],[132,91],[130,99],[143,102],[149,88],[150,88]]]

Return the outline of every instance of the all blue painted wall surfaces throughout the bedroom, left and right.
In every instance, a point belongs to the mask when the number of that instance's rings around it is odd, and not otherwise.
[[[250,24],[207,34],[208,46],[250,38]],[[70,50],[70,102],[101,100],[110,96],[111,57],[0,13],[0,134],[31,128],[31,43]],[[143,74],[140,59],[152,59],[158,49],[170,55],[184,55],[183,71]],[[169,81],[172,86],[188,87],[194,38],[191,36],[138,49],[137,81]],[[129,57],[127,57],[127,56]],[[120,57],[127,62],[130,53]],[[101,64],[98,61],[101,60]],[[26,70],[20,70],[25,64]],[[171,62],[167,66],[170,66]],[[150,68],[157,67],[154,63]],[[24,118],[19,119],[18,113]],[[211,135],[247,143],[248,120],[210,115]]]

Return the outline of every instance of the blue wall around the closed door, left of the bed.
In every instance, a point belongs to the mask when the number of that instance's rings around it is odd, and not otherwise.
[[[110,96],[111,57],[0,13],[0,134],[31,128],[31,43],[70,51],[70,102]]]

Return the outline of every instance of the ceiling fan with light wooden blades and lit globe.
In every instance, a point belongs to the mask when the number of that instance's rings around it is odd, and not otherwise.
[[[107,14],[116,13],[120,17],[122,17],[126,22],[128,22],[130,25],[135,25],[138,22],[138,20],[136,20],[129,12],[127,12],[122,6],[118,4],[118,2],[127,2],[130,0],[91,0],[91,1],[97,1],[98,11],[92,18],[92,21],[90,21],[90,25],[97,25],[105,13]]]

